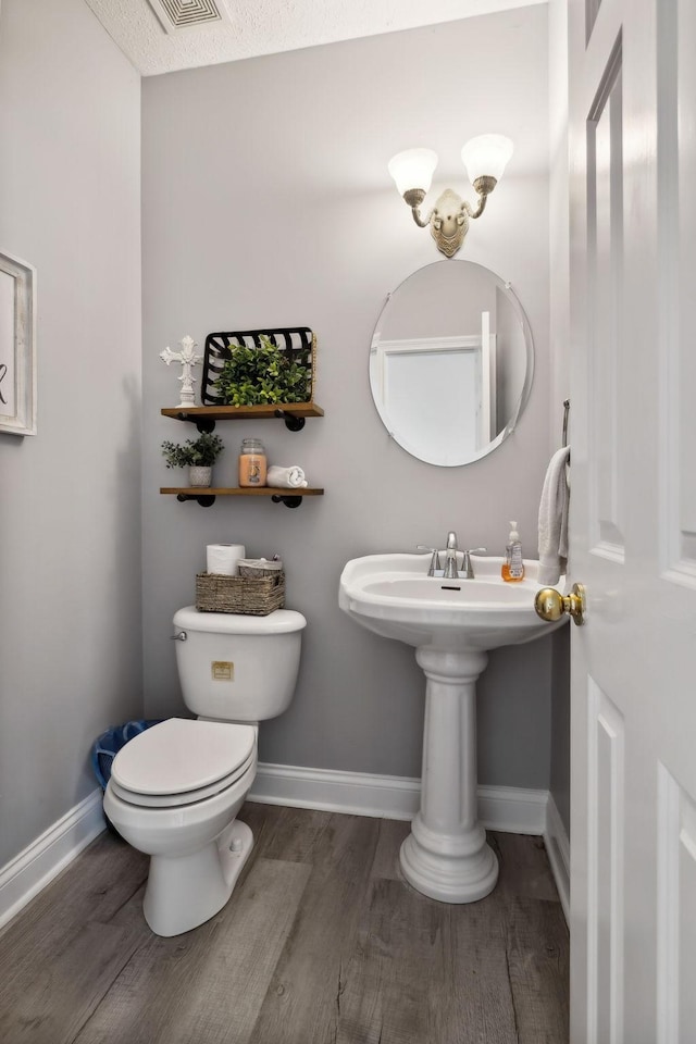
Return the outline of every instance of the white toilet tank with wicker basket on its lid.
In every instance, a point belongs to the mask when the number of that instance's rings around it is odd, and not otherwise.
[[[293,609],[265,617],[199,612],[174,613],[176,664],[184,701],[201,718],[263,721],[287,710],[300,664],[307,620]]]

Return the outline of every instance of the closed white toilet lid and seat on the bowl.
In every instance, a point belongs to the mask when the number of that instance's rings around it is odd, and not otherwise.
[[[228,778],[239,774],[237,770],[247,766],[254,748],[251,725],[167,718],[121,748],[111,766],[111,779],[132,794],[190,794],[214,788],[223,780],[225,785],[232,782]]]

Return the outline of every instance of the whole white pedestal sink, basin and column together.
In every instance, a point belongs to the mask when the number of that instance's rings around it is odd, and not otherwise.
[[[444,903],[481,899],[498,879],[476,818],[476,681],[488,651],[567,620],[535,612],[538,562],[525,560],[524,580],[509,584],[501,558],[471,560],[473,580],[445,580],[427,575],[430,555],[368,555],[346,564],[338,596],[361,626],[414,646],[425,674],[421,808],[400,861],[414,888]]]

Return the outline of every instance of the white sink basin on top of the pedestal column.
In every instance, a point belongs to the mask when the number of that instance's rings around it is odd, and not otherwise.
[[[534,610],[538,562],[525,560],[524,580],[506,583],[501,558],[472,555],[471,561],[473,580],[444,580],[427,575],[430,555],[355,558],[343,571],[338,604],[386,638],[462,651],[520,645],[564,622],[545,623]]]

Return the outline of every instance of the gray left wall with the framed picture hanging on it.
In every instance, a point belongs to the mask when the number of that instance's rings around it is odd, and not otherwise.
[[[139,99],[83,0],[3,0],[0,250],[38,272],[38,434],[0,434],[0,866],[141,709]]]

